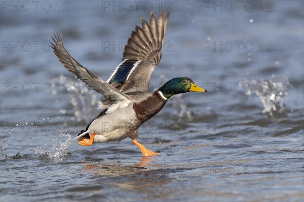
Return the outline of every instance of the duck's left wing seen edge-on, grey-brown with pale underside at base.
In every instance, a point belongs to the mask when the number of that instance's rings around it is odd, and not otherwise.
[[[54,37],[52,36],[52,38],[55,43],[52,43],[52,48],[54,50],[53,52],[63,67],[65,67],[69,72],[76,75],[77,78],[88,84],[93,90],[96,90],[104,96],[111,97],[111,100],[113,100],[113,102],[111,105],[109,105],[106,112],[107,114],[115,111],[116,109],[123,108],[131,102],[128,99],[127,95],[121,93],[118,89],[90,72],[87,68],[79,64],[67,53],[62,42],[62,32],[61,37],[59,37],[57,33],[54,33]]]

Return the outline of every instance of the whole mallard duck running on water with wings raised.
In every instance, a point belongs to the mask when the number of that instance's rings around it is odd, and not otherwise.
[[[103,111],[74,138],[79,140],[80,145],[90,146],[95,142],[120,141],[130,137],[144,157],[160,155],[137,141],[137,129],[154,117],[172,95],[206,91],[186,77],[173,78],[158,90],[148,91],[150,77],[162,56],[169,19],[169,13],[165,19],[163,13],[161,11],[156,20],[152,12],[149,24],[142,18],[142,27],[135,26],[125,46],[122,62],[107,81],[90,72],[67,53],[62,32],[61,37],[57,33],[52,36],[52,48],[63,67],[103,95],[98,102],[98,108]]]

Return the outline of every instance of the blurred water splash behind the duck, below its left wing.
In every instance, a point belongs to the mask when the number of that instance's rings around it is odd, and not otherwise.
[[[87,84],[79,80],[71,80],[65,76],[58,76],[51,79],[52,93],[69,92],[70,103],[73,106],[74,116],[72,121],[90,121],[92,114],[97,115],[97,96]],[[65,109],[60,109],[60,113],[65,114]]]

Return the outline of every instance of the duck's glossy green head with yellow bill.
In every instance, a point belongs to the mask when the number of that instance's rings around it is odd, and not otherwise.
[[[159,89],[166,98],[171,97],[172,95],[194,91],[194,92],[206,92],[204,88],[201,88],[194,84],[191,78],[187,77],[178,77],[171,79],[165,83]]]

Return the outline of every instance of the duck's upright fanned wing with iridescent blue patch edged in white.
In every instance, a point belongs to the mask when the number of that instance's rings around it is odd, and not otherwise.
[[[155,67],[161,60],[161,49],[165,40],[169,19],[167,13],[163,19],[161,11],[156,20],[151,13],[149,24],[141,19],[142,28],[135,26],[125,46],[123,62],[118,65],[110,78],[109,84],[116,84],[121,92],[148,91],[148,85]]]

